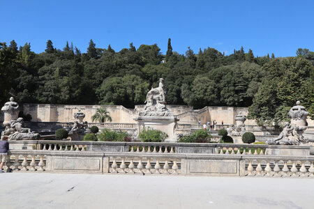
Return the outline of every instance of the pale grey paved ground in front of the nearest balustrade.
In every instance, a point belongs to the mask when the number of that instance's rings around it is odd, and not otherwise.
[[[314,179],[0,173],[0,208],[314,208]]]

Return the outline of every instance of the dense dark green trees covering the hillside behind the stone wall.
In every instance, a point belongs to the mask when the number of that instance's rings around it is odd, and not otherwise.
[[[165,43],[166,44],[166,43]],[[161,63],[165,59],[165,63]],[[313,116],[314,53],[298,49],[296,57],[255,57],[241,47],[225,55],[207,47],[195,54],[167,53],[155,45],[133,43],[115,52],[90,40],[87,53],[69,45],[61,49],[47,41],[45,52],[31,52],[0,42],[0,103],[14,96],[20,103],[144,104],[147,91],[163,77],[168,104],[249,107],[259,123],[283,121],[288,107],[300,100]],[[98,121],[99,119],[95,119]],[[103,120],[100,120],[103,121]]]

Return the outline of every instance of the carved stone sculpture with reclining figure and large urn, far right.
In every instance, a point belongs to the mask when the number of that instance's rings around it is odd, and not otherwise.
[[[307,142],[303,137],[303,132],[307,128],[306,117],[309,113],[299,104],[300,102],[297,101],[297,105],[288,113],[291,117],[290,123],[285,123],[281,134],[276,139],[267,140],[267,144],[299,145]]]

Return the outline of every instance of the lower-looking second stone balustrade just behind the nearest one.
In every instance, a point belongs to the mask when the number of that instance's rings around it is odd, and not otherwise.
[[[10,149],[110,153],[208,153],[218,155],[310,155],[310,146],[114,141],[10,141]]]

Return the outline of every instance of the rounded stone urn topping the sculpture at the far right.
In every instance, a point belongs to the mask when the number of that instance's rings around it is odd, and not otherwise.
[[[291,117],[290,124],[298,127],[307,127],[306,118],[308,116],[306,108],[300,105],[300,101],[297,101],[297,105],[291,107],[288,115]]]

